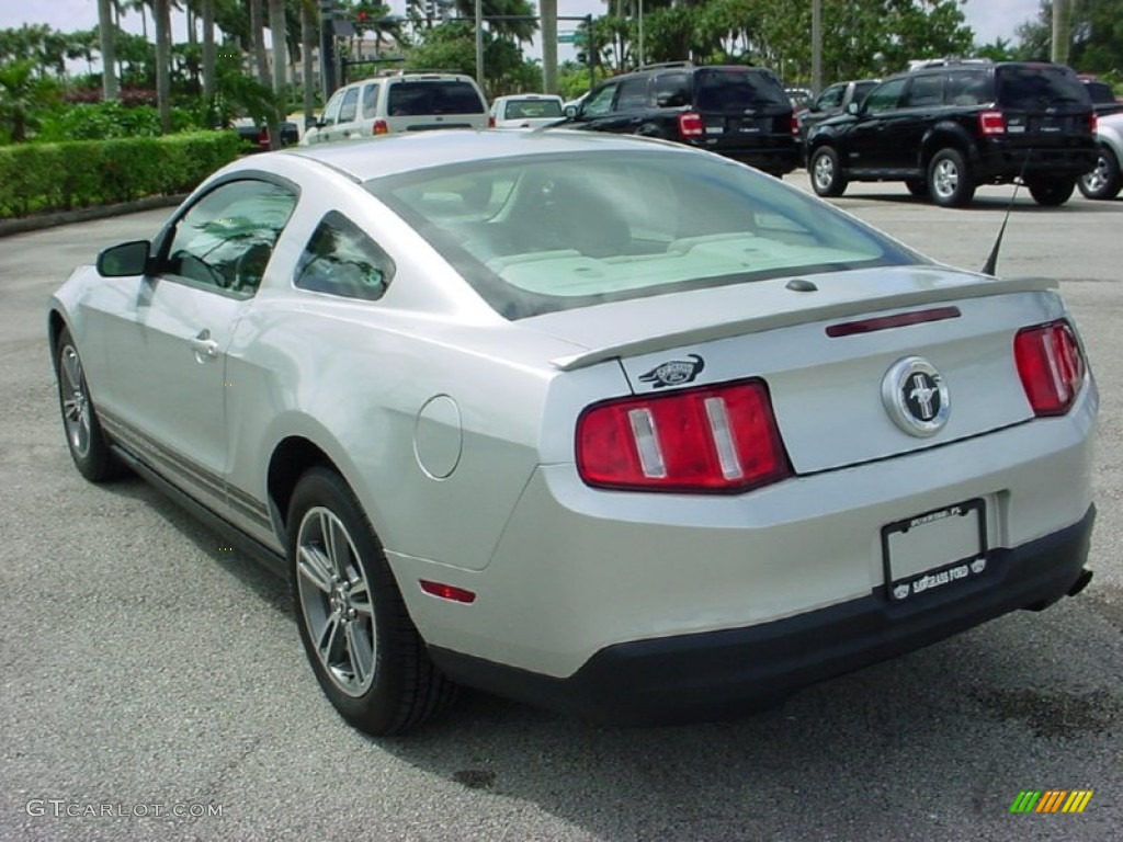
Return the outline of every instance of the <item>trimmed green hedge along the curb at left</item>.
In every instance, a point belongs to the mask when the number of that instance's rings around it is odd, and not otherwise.
[[[184,193],[240,149],[234,131],[0,146],[0,219]]]

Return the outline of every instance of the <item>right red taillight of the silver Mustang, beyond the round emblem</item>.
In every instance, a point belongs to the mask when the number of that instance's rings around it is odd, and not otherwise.
[[[1014,361],[1034,414],[1068,412],[1084,383],[1084,357],[1068,322],[1053,321],[1017,331]]]

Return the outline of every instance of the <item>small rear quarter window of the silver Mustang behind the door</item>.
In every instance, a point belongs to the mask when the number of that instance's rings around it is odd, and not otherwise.
[[[377,301],[394,275],[394,262],[339,211],[329,211],[296,262],[301,290]]]

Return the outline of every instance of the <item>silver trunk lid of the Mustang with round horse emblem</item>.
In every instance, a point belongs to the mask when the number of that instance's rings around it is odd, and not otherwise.
[[[809,474],[1032,418],[1013,342],[1020,328],[1063,315],[1050,286],[917,266],[841,273],[813,292],[778,280],[687,293],[688,303],[628,302],[627,321],[605,305],[528,322],[590,348],[559,367],[618,359],[636,393],[763,378],[792,465]],[[907,318],[884,321],[893,317]],[[898,364],[913,357],[947,387],[947,423],[934,433],[909,432],[886,397],[912,388]]]

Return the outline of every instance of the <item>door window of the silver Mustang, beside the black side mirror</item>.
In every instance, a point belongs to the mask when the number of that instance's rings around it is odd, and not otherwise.
[[[162,274],[249,298],[295,205],[293,192],[271,182],[247,179],[216,187],[175,223]]]

